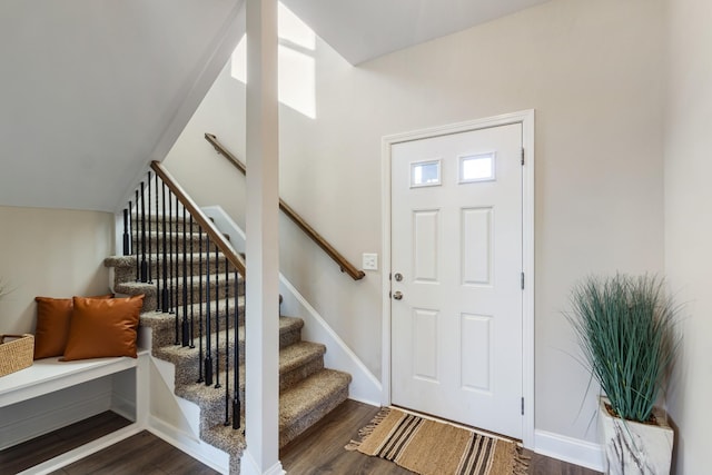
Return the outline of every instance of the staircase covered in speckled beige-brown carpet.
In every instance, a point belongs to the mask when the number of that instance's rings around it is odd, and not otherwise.
[[[138,253],[108,257],[105,266],[113,268],[113,291],[146,295],[140,327],[151,330],[151,355],[175,365],[175,395],[200,408],[200,439],[228,453],[230,473],[237,474],[245,448],[245,408],[244,404],[238,406],[241,407],[238,409],[240,428],[233,428],[229,412],[235,375],[231,367],[225,370],[227,362],[224,362],[226,355],[228,358],[234,353],[239,355],[238,394],[239,400],[245,400],[245,286],[237,273],[226,273],[228,264],[217,248],[202,246],[197,225],[192,220],[185,222],[179,216],[176,212],[166,217],[168,241],[164,238],[162,216],[149,219],[145,232],[138,229],[139,226],[134,226],[137,229],[131,234],[131,249],[138,248],[144,234],[146,239],[140,246],[151,249],[152,254],[146,258]],[[132,222],[139,222],[139,218],[135,216]],[[187,234],[186,229],[192,231]],[[146,240],[149,241],[148,246]],[[164,247],[167,247],[171,266],[169,274],[162,264],[158,264],[159,259],[164,259]],[[146,270],[152,277],[152,283],[141,281],[139,267],[142,265],[137,265],[137,260],[147,261]],[[210,286],[205,287],[208,281]],[[167,294],[169,305],[161,303],[166,295],[162,288],[170,289]],[[170,307],[169,311],[162,311],[167,307]],[[209,333],[207,315],[211,318]],[[189,340],[184,339],[179,331],[186,328],[184,318],[188,321],[192,318],[192,324],[188,324]],[[301,339],[304,321],[300,318],[278,315],[274,318],[279,318],[279,446],[283,447],[348,397],[352,377],[324,367],[326,347]],[[238,325],[237,333],[234,325]],[[200,353],[201,349],[207,353],[208,346],[211,352],[210,368]],[[205,382],[208,372],[212,373],[210,385]]]

